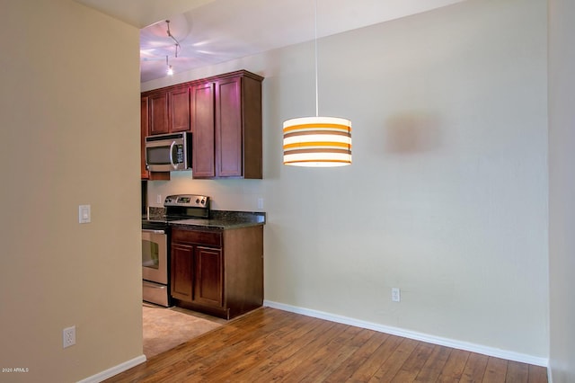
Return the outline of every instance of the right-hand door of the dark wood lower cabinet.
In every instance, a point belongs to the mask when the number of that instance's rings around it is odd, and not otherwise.
[[[194,301],[211,307],[224,305],[224,264],[222,251],[198,246],[195,252]]]

